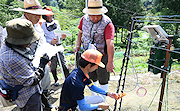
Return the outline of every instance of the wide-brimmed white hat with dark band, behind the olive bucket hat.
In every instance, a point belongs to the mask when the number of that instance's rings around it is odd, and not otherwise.
[[[24,0],[24,9],[14,8],[14,11],[27,12],[36,15],[47,15],[52,12],[42,9],[38,0]]]

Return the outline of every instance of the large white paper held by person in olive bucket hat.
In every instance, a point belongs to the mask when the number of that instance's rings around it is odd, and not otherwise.
[[[40,63],[40,58],[47,53],[49,56],[49,59],[51,59],[52,56],[54,56],[57,52],[64,51],[64,47],[62,45],[60,46],[53,46],[49,43],[44,43],[41,46],[39,46],[36,50],[35,57],[32,61],[34,67],[38,67]]]

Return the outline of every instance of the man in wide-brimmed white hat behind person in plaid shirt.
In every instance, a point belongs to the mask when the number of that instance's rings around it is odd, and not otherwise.
[[[34,50],[34,53],[36,55],[36,49],[41,47],[44,43],[46,43],[46,38],[44,37],[44,31],[38,22],[42,15],[51,14],[51,12],[48,10],[42,9],[38,0],[24,0],[24,9],[14,8],[13,10],[24,12],[24,14],[20,18],[31,21],[36,33],[38,33],[38,35],[40,36],[38,44],[34,43],[31,45],[31,49]],[[32,63],[34,63],[34,61],[32,61]],[[51,78],[49,74],[48,64],[45,67],[45,75],[43,79],[41,80],[41,86],[43,89],[43,93],[42,93],[43,106],[45,109],[51,110],[53,106],[48,102],[48,99],[47,99],[47,93],[49,92],[50,86],[51,86]]]

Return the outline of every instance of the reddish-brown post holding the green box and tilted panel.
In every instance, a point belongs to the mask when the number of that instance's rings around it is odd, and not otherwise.
[[[167,71],[167,67],[169,66],[169,60],[170,60],[169,50],[170,50],[170,46],[172,44],[172,36],[169,36],[168,40],[169,40],[169,43],[167,44],[166,59],[165,59],[165,65],[164,65],[165,71]],[[161,86],[161,94],[160,94],[160,99],[159,99],[158,111],[161,111],[161,106],[162,106],[162,102],[163,102],[164,88],[165,88],[165,83],[166,83],[166,73],[167,72],[164,72],[164,71],[162,71],[162,73],[161,73],[161,78],[163,80],[162,80],[162,86]]]

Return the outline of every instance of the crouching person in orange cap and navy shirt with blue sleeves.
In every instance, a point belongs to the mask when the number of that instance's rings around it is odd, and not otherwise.
[[[79,60],[79,67],[74,69],[63,83],[60,95],[59,111],[75,111],[77,105],[82,111],[91,111],[97,108],[106,110],[109,108],[107,103],[103,102],[103,98],[97,96],[84,96],[84,88],[87,85],[90,90],[99,94],[115,98],[119,96],[117,93],[104,91],[93,85],[89,79],[88,73],[98,69],[98,66],[104,68],[101,62],[102,53],[95,49],[86,50]]]

